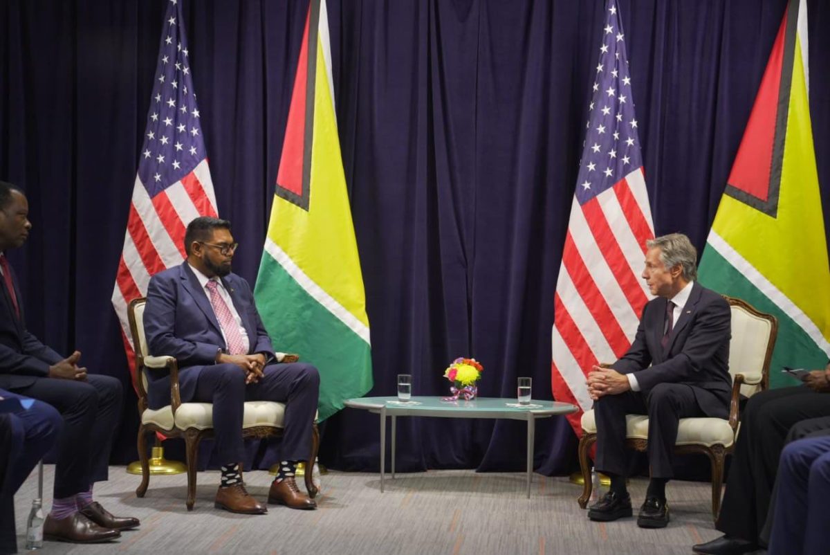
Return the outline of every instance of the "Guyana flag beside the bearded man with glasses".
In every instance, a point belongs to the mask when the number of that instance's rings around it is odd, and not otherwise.
[[[325,0],[311,0],[254,295],[275,348],[320,370],[320,420],[372,388],[330,68]]]

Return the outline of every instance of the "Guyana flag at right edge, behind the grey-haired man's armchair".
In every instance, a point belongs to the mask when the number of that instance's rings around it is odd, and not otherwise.
[[[707,287],[779,319],[770,365],[823,368],[830,269],[808,106],[807,6],[790,0],[701,258]]]

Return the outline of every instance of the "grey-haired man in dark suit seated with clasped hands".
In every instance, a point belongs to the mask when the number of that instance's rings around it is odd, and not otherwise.
[[[647,242],[646,280],[657,298],[643,308],[631,348],[611,369],[594,366],[588,391],[597,421],[598,471],[608,474],[608,494],[588,518],[608,522],[632,515],[626,490],[626,414],[648,415],[651,481],[637,517],[641,528],[669,522],[666,482],[681,418],[729,416],[731,313],[718,293],[701,287],[697,252],[686,235]]]

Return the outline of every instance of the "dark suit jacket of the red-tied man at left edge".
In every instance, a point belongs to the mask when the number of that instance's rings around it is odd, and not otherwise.
[[[14,310],[5,280],[0,278],[0,388],[6,390],[31,386],[37,378],[49,375],[49,366],[64,358],[26,329],[23,297],[14,270],[11,273],[20,316]]]

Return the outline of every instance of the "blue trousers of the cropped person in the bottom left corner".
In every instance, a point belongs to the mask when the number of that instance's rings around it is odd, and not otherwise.
[[[2,396],[19,395],[3,391]],[[14,494],[55,444],[62,425],[57,410],[41,401],[27,410],[0,415],[0,554],[17,552]]]

